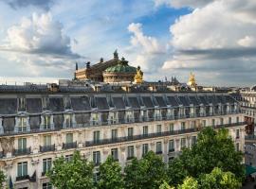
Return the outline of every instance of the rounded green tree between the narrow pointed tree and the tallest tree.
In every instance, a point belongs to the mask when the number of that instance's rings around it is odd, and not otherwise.
[[[153,151],[149,151],[140,160],[132,160],[124,168],[124,173],[125,186],[128,189],[155,189],[167,180],[165,163]]]

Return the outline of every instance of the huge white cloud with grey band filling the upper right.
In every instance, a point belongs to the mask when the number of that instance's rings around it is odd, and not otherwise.
[[[256,2],[212,0],[204,1],[205,5],[182,2],[185,3],[180,6],[191,7],[192,12],[170,26],[174,55],[165,60],[162,69],[214,72],[216,80],[221,78],[225,83],[235,84],[232,78],[236,77],[236,84],[245,84],[248,73],[256,69]]]

